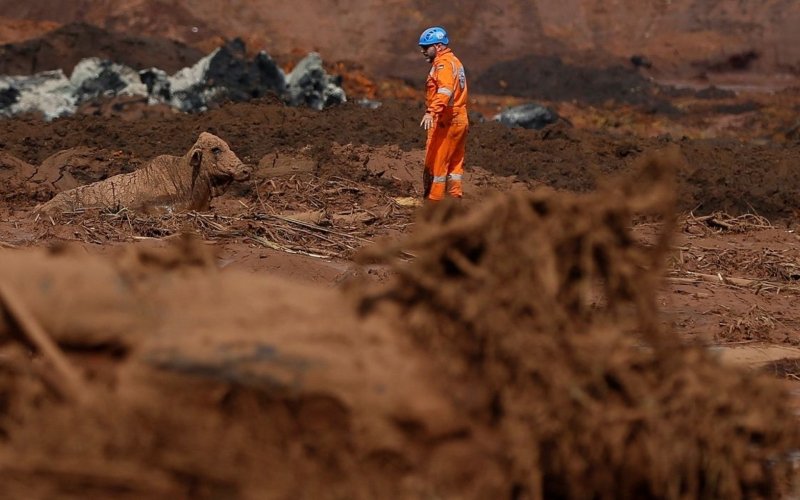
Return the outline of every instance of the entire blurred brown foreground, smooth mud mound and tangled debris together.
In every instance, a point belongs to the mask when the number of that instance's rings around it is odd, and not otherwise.
[[[395,278],[346,293],[220,272],[191,239],[4,251],[0,281],[92,397],[64,401],[0,317],[0,494],[775,497],[800,441],[781,386],[656,319],[680,161],[425,212],[362,254]],[[665,221],[654,244],[637,214]]]

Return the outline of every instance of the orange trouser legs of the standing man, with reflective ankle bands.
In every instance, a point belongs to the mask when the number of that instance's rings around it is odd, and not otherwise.
[[[424,177],[426,198],[441,200],[445,193],[454,198],[461,198],[467,128],[466,117],[456,117],[437,121],[428,130],[428,143],[425,147],[427,174]]]

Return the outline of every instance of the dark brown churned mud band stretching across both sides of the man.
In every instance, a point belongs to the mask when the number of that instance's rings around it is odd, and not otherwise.
[[[349,176],[351,167],[333,159],[336,145],[423,149],[424,134],[418,127],[422,111],[420,104],[389,101],[377,110],[346,104],[316,112],[266,99],[147,120],[77,116],[45,123],[16,118],[0,121],[0,149],[32,165],[78,145],[120,151],[144,162],[160,154],[180,154],[207,131],[222,137],[248,164],[275,151],[307,150],[319,172]],[[629,168],[643,152],[674,143],[686,160],[678,174],[679,210],[755,212],[777,222],[791,220],[800,209],[795,196],[800,173],[792,168],[800,143],[619,138],[565,125],[533,132],[494,122],[473,123],[468,141],[467,168],[578,192]],[[131,165],[129,159],[127,166],[114,168],[129,170]]]

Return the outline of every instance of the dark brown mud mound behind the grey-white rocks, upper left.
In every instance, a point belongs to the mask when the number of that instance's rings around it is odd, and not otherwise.
[[[170,73],[191,66],[205,54],[182,43],[112,33],[73,23],[42,37],[0,47],[1,75],[31,75],[62,69],[71,73],[81,59],[99,57],[137,70],[161,68]]]

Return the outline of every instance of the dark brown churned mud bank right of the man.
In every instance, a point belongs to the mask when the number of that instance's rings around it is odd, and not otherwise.
[[[595,189],[609,174],[629,169],[643,151],[675,144],[686,159],[678,172],[678,210],[755,213],[792,223],[800,208],[800,174],[791,168],[800,143],[756,144],[735,139],[637,139],[564,127],[509,130],[475,124],[467,161],[499,175],[570,191]]]

